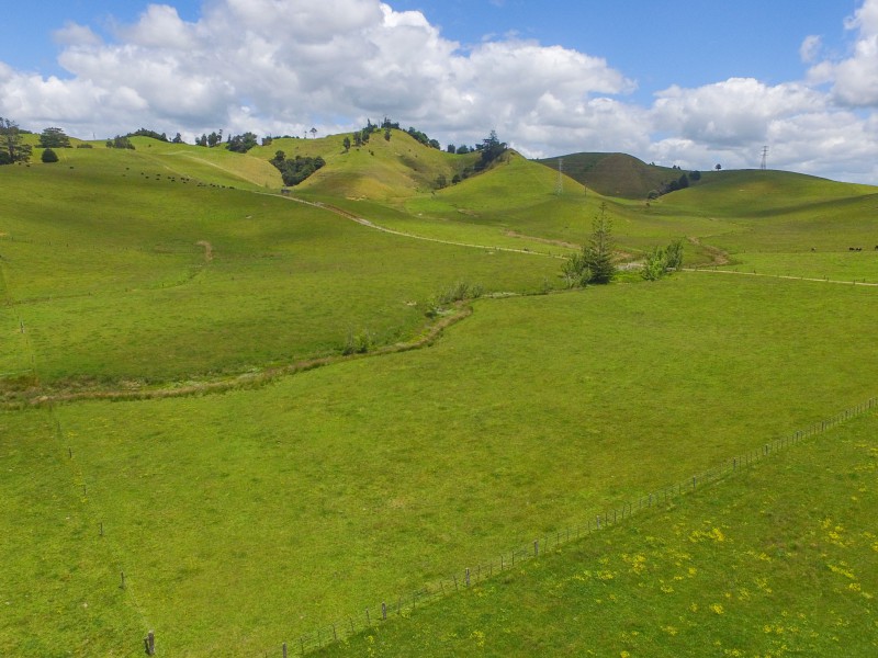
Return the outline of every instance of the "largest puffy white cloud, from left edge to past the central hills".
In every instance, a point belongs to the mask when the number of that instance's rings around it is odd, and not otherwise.
[[[517,129],[522,116],[542,121],[551,104],[540,99],[587,115],[589,99],[634,87],[606,60],[560,46],[506,37],[464,52],[420,12],[379,0],[213,0],[196,22],[149,4],[114,36],[102,43],[68,24],[56,38],[66,46],[59,63],[70,79],[18,76],[7,90],[29,100],[15,107],[0,101],[3,110],[48,110],[61,90],[89,90],[77,105],[91,102],[98,113],[105,110],[101,99],[122,94],[132,99],[128,109],[140,109],[116,116],[112,131],[158,123],[190,134],[221,126],[297,132],[322,116],[354,126],[387,113],[475,139],[492,127]],[[45,112],[26,116],[42,120]]]

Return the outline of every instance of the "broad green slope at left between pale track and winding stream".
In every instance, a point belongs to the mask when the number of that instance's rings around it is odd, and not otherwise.
[[[31,362],[43,385],[241,372],[337,354],[352,334],[393,343],[417,334],[427,303],[459,281],[536,291],[558,272],[545,258],[415,241],[199,186],[145,168],[139,149],[65,155],[72,169],[0,172],[3,325],[30,345],[22,356],[4,342],[0,373]]]

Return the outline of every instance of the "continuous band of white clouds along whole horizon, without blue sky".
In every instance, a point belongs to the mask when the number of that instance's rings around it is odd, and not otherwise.
[[[852,109],[878,105],[878,0],[846,26],[846,59],[820,60],[821,37],[803,38],[804,81],[674,86],[641,106],[628,100],[637,82],[601,57],[515,33],[464,47],[380,0],[204,0],[194,21],[154,3],[106,41],[76,23],[55,32],[65,77],[0,63],[0,114],[83,137],[146,126],[189,139],[386,115],[455,144],[493,128],[527,156],[627,151],[693,169],[756,166],[768,144],[773,166],[867,180],[876,120]]]

